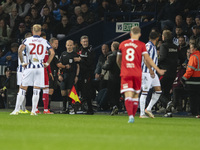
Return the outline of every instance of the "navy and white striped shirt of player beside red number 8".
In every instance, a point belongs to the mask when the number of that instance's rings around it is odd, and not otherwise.
[[[149,41],[146,44],[146,49],[147,49],[147,52],[148,52],[149,56],[153,60],[153,62],[156,65],[158,65],[158,55],[157,55],[156,46],[151,41]],[[152,70],[154,72],[156,72],[156,70],[153,67],[152,67]],[[144,58],[142,59],[142,72],[144,72],[144,73],[149,73],[150,72],[149,69],[147,68],[147,66],[144,63]]]

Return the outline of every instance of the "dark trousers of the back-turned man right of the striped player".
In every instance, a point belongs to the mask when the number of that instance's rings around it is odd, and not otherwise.
[[[170,90],[172,88],[172,84],[174,82],[175,77],[176,77],[175,75],[174,76],[164,75],[163,78],[160,80],[162,94],[159,100],[161,101],[162,107],[164,108],[167,107],[167,103],[171,100]]]

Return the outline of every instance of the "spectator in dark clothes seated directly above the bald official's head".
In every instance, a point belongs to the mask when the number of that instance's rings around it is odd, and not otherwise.
[[[61,19],[61,23],[58,23],[55,27],[54,37],[62,39],[63,37],[67,36],[70,30],[71,25],[68,21],[68,18],[67,16],[63,16]]]

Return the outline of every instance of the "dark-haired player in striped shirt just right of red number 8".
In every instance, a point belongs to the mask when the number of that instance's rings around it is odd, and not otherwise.
[[[158,39],[159,39],[159,34],[157,32],[151,32],[149,34],[149,42],[146,44],[146,49],[149,53],[149,56],[156,65],[158,65],[158,56],[155,44],[158,41]],[[146,98],[151,87],[154,87],[155,92],[152,95],[149,105],[145,109]],[[158,75],[156,74],[156,70],[150,67],[143,59],[142,94],[140,96],[140,118],[148,118],[145,115],[145,113],[147,113],[149,117],[154,118],[151,109],[154,106],[154,104],[158,101],[161,93],[162,91],[161,91],[160,81]]]

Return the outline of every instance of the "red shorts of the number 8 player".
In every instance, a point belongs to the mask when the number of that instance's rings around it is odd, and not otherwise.
[[[132,91],[140,93],[142,76],[121,77],[121,93]]]

